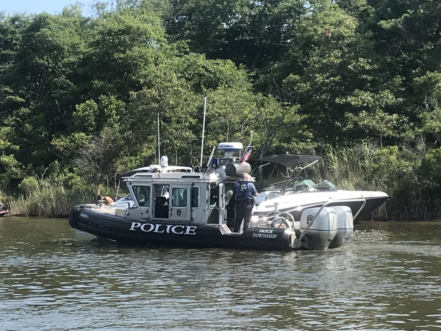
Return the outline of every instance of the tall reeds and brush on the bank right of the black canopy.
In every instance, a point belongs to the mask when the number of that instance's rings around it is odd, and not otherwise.
[[[374,219],[439,219],[439,183],[433,171],[422,169],[423,158],[424,154],[396,146],[379,149],[359,145],[326,151],[321,173],[342,189],[389,194],[388,201],[371,215]]]

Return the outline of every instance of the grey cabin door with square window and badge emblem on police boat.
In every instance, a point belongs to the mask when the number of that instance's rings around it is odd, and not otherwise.
[[[170,185],[170,208],[168,219],[174,221],[190,221],[190,185]]]

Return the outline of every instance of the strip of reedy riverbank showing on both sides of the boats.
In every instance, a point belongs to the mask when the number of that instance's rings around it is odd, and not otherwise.
[[[386,192],[389,199],[370,219],[440,220],[441,180],[437,169],[441,157],[438,154],[441,155],[441,149],[418,154],[397,146],[381,149],[364,144],[324,149],[322,160],[317,166],[307,168],[303,177],[327,179],[345,190]],[[284,169],[279,171],[283,173]],[[269,173],[264,173],[264,177],[266,184],[274,182],[269,179]],[[115,186],[112,178],[100,189],[112,196],[116,193]],[[0,201],[8,206],[11,215],[54,217],[68,214],[78,203],[95,201],[92,184],[70,185],[51,177],[35,181],[33,186],[22,185],[20,189],[22,192],[14,194],[0,193]]]

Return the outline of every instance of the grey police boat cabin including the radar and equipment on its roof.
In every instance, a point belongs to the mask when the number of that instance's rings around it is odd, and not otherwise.
[[[250,171],[239,164],[233,153],[242,150],[241,143],[221,143],[223,158],[210,158],[204,172],[163,172],[155,165],[133,172],[123,181],[135,202],[124,216],[142,220],[176,221],[197,224],[225,224],[226,207],[235,181]],[[163,166],[161,158],[161,166]],[[183,167],[181,167],[183,168]],[[187,169],[183,170],[187,171]]]

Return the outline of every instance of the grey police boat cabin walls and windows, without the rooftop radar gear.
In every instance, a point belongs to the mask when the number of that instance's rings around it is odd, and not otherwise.
[[[135,202],[127,217],[191,223],[224,219],[224,185],[216,173],[137,173],[124,181]]]

